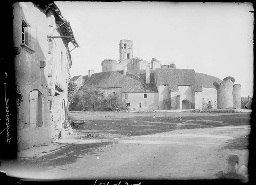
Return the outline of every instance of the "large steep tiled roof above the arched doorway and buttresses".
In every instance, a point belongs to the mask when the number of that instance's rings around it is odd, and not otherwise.
[[[178,91],[178,85],[191,85],[194,91],[203,91],[194,69],[155,68],[158,85],[169,85],[171,91]]]

